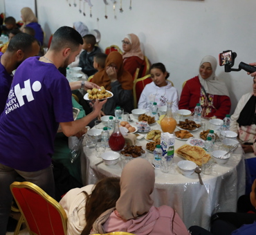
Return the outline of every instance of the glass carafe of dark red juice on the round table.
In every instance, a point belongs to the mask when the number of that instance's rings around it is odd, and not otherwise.
[[[120,151],[125,147],[125,138],[119,129],[119,120],[114,120],[115,129],[109,138],[109,147],[113,151]]]

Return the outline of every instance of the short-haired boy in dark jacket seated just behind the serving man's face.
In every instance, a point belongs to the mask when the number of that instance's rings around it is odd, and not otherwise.
[[[94,35],[85,35],[83,38],[84,44],[82,48],[84,51],[80,55],[79,67],[82,68],[82,72],[90,77],[97,73],[97,69],[93,67],[93,57],[97,53],[101,53],[100,48],[95,46],[96,38]]]

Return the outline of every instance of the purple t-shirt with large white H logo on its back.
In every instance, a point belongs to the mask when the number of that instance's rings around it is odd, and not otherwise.
[[[59,122],[73,121],[71,88],[53,64],[26,59],[0,118],[0,162],[20,171],[51,164]]]

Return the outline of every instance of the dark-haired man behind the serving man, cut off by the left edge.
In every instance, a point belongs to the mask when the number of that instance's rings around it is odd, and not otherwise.
[[[0,115],[6,106],[12,84],[12,71],[26,58],[38,55],[39,50],[39,44],[34,37],[19,33],[10,40],[6,53],[0,53]]]

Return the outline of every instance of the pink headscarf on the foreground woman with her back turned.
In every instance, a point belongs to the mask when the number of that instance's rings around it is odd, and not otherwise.
[[[154,183],[154,168],[147,160],[136,158],[125,165],[120,179],[121,194],[116,202],[122,219],[138,218],[149,212],[154,203],[150,197]]]

